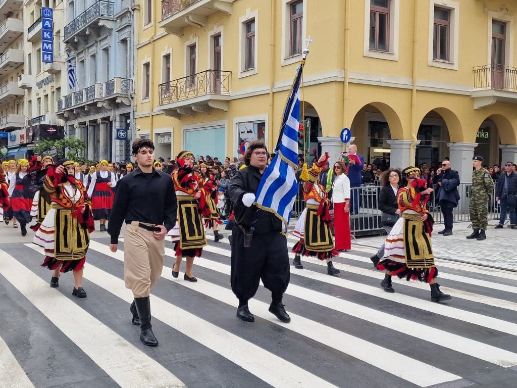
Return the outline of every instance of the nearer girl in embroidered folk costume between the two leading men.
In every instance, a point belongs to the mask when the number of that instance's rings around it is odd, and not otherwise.
[[[185,257],[187,268],[183,278],[195,282],[197,279],[192,275],[194,257],[201,257],[203,247],[207,245],[203,219],[197,202],[203,195],[203,190],[200,185],[201,178],[192,171],[194,154],[191,151],[181,151],[177,162],[179,168],[172,173],[172,180],[178,201],[178,219],[169,232],[172,242],[175,243],[176,252],[172,276],[178,277],[181,259]]]

